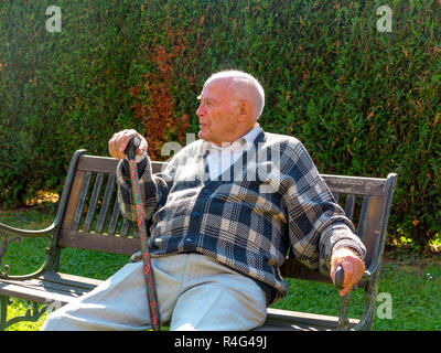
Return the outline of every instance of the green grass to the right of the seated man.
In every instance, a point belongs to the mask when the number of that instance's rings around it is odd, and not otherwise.
[[[428,275],[429,274],[429,275]],[[275,307],[338,315],[341,299],[330,285],[297,279],[288,279],[290,293]],[[423,266],[407,266],[397,263],[383,265],[378,293],[389,293],[391,298],[391,319],[381,317],[385,300],[378,300],[375,314],[375,331],[441,330],[441,264],[432,260]],[[361,318],[364,291],[352,292],[348,317]]]

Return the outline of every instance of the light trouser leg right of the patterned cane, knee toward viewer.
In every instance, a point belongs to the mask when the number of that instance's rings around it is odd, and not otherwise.
[[[245,331],[263,324],[265,292],[250,278],[205,256],[189,263],[170,330]]]

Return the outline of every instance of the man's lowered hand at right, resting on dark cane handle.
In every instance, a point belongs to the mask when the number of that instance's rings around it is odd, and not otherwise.
[[[340,295],[343,297],[362,279],[366,267],[357,253],[348,247],[341,247],[332,254],[331,278],[334,284],[335,271],[338,266],[342,266],[344,270],[343,289],[340,291]]]

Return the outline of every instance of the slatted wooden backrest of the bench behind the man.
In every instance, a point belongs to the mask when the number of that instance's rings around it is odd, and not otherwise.
[[[112,158],[86,156],[77,151],[71,162],[55,220],[58,247],[75,247],[131,255],[140,249],[137,232],[122,217],[117,202]],[[153,172],[163,163],[153,162]],[[366,267],[376,269],[383,254],[396,174],[387,179],[322,175],[353,221],[367,248]],[[281,268],[286,277],[319,281],[330,279],[289,258]]]

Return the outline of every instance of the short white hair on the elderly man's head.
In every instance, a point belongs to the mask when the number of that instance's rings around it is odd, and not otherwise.
[[[238,69],[222,71],[209,76],[204,88],[218,78],[230,79],[232,88],[239,99],[247,99],[251,103],[252,115],[257,119],[261,116],[265,106],[265,90],[255,77]]]

